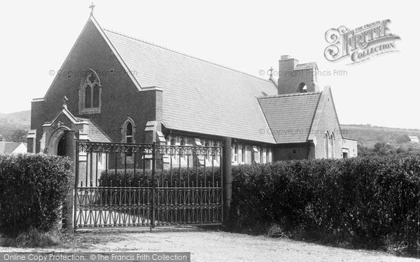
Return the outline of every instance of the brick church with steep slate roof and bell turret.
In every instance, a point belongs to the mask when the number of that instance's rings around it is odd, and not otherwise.
[[[285,55],[278,80],[258,78],[104,29],[91,15],[48,92],[31,102],[28,152],[65,155],[69,136],[217,147],[228,137],[233,165],[342,158],[332,92],[316,71]]]

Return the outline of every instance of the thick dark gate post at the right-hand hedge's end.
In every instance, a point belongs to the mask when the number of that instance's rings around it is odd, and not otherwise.
[[[229,219],[230,201],[232,199],[232,138],[223,140],[223,224]]]

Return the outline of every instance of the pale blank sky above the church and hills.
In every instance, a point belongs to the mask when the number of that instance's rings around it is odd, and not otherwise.
[[[420,129],[416,1],[96,1],[94,17],[114,31],[260,75],[289,54],[316,61],[342,124]],[[89,17],[90,1],[1,3],[0,112],[30,109],[43,97]],[[377,20],[402,39],[400,52],[361,64],[330,62],[325,31]],[[334,75],[334,70],[346,75]],[[262,75],[262,78],[268,78]]]

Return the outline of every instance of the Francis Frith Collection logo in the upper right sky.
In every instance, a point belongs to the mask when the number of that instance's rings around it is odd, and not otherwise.
[[[356,64],[379,54],[398,51],[395,49],[395,41],[400,36],[391,34],[388,28],[390,22],[391,20],[382,20],[353,30],[342,26],[326,31],[325,40],[330,45],[325,48],[325,58],[328,61],[338,61],[349,57],[349,64]]]

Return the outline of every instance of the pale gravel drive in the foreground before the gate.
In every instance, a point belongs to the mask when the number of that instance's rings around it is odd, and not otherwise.
[[[56,249],[0,247],[0,252],[191,252],[191,261],[420,261],[384,252],[342,249],[263,236],[159,228],[86,231]]]

